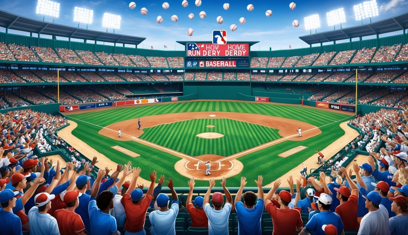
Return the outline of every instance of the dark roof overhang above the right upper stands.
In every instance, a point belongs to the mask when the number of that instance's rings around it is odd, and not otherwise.
[[[322,42],[333,42],[350,38],[358,38],[381,33],[389,33],[408,28],[408,12],[399,16],[394,16],[385,20],[380,20],[370,24],[364,24],[344,29],[337,29],[323,33],[314,33],[310,35],[300,36],[307,44],[315,44]]]

